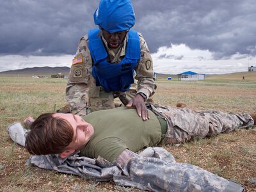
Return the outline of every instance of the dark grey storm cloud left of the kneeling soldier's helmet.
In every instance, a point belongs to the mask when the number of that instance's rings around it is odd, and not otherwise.
[[[99,2],[10,0],[1,2],[0,53],[74,54],[79,38],[94,26]]]

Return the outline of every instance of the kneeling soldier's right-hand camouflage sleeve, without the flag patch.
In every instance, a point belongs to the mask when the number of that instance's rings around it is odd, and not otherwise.
[[[138,93],[144,93],[148,99],[148,97],[154,95],[156,81],[154,77],[153,61],[147,43],[140,33],[139,36],[141,58],[136,68],[135,79],[138,80]]]

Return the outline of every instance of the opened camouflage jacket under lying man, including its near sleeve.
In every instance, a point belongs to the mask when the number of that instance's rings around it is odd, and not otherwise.
[[[90,159],[77,154],[61,159],[58,155],[31,156],[28,164],[47,170],[79,175],[99,181],[114,180],[120,186],[148,191],[243,191],[243,186],[198,166],[176,163],[164,148],[149,147],[140,157],[129,160],[124,168],[98,157]]]

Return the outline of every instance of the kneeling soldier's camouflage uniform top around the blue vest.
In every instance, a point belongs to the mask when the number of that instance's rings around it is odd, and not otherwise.
[[[120,62],[125,56],[127,36],[120,49],[109,49],[108,43],[102,36],[101,31],[99,35],[108,52],[108,61],[113,63],[113,65]],[[134,74],[134,78],[138,80],[138,89],[136,90],[133,85],[131,89],[125,93],[107,93],[102,86],[96,86],[95,79],[92,76],[93,61],[88,46],[88,35],[81,38],[74,60],[76,61],[77,58],[83,58],[83,60],[72,64],[66,88],[66,99],[70,104],[72,113],[83,116],[92,111],[115,108],[113,94],[119,97],[123,104],[127,104],[127,102],[136,95],[137,91],[144,93],[147,99],[154,94],[156,85],[152,58],[143,36],[141,36],[140,33],[139,36],[141,59],[138,66],[135,68],[136,74]]]

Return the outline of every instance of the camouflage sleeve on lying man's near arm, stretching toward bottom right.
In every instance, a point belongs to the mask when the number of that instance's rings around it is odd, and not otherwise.
[[[127,161],[129,164],[125,164]],[[127,180],[138,182],[149,191],[242,192],[244,190],[240,184],[207,172],[198,166],[158,158],[152,161],[152,157],[141,157],[128,149],[116,158],[116,163],[124,168],[123,173],[128,177]],[[124,184],[124,175],[120,181],[120,184]],[[115,182],[118,183],[117,177]]]

